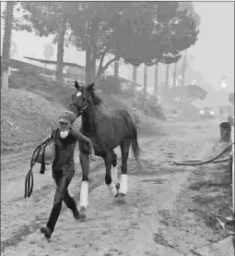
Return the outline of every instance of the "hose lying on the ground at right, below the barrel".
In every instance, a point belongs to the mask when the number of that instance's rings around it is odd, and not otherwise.
[[[173,165],[191,165],[191,166],[196,166],[196,165],[206,165],[206,164],[218,164],[218,163],[222,163],[222,162],[227,162],[229,161],[229,157],[217,160],[217,158],[219,158],[221,155],[223,155],[225,152],[227,152],[231,145],[234,142],[229,142],[229,144],[227,145],[227,147],[220,153],[218,153],[215,157],[205,160],[205,161],[200,161],[200,160],[187,160],[187,161],[173,161]]]

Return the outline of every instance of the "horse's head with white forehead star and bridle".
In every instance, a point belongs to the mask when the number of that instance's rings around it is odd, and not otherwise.
[[[75,81],[76,92],[72,95],[72,104],[70,109],[76,114],[76,117],[80,116],[88,107],[88,104],[92,100],[94,94],[94,83],[88,86],[80,86]]]

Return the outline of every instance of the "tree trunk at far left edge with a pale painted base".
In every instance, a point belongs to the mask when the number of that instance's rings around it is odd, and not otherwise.
[[[1,88],[3,90],[8,89],[8,70],[9,65],[7,60],[10,56],[10,47],[11,47],[11,33],[13,27],[13,18],[14,18],[14,6],[15,2],[6,2],[6,10],[5,10],[5,31],[4,31],[4,39],[3,39],[3,53],[2,53],[2,62],[4,65],[2,67],[1,74]]]

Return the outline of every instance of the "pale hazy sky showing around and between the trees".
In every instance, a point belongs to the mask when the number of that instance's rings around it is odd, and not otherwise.
[[[1,12],[3,6],[5,3],[1,2]],[[227,90],[234,91],[234,2],[194,2],[194,8],[201,18],[201,25],[197,43],[188,50],[188,54],[195,57],[191,67],[194,71],[200,71],[215,91],[220,89],[222,76],[225,75]],[[3,29],[2,24],[2,35]],[[13,31],[12,40],[18,46],[14,58],[27,61],[23,56],[44,58],[43,45],[51,43],[52,37],[39,38],[33,33]],[[56,45],[53,44],[53,47],[52,59],[55,60]],[[85,65],[85,53],[77,52],[73,47],[66,48],[65,61]],[[159,83],[165,80],[165,69],[165,66],[159,65]],[[112,67],[109,70],[112,73]],[[132,79],[132,67],[121,66],[120,77]],[[141,66],[138,68],[137,82],[143,84],[143,77]],[[154,67],[148,68],[147,86],[149,89],[154,86]]]

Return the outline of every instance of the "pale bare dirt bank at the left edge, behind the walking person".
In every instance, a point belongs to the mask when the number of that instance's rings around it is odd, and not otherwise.
[[[49,135],[63,106],[23,89],[1,93],[1,152],[11,152]]]

